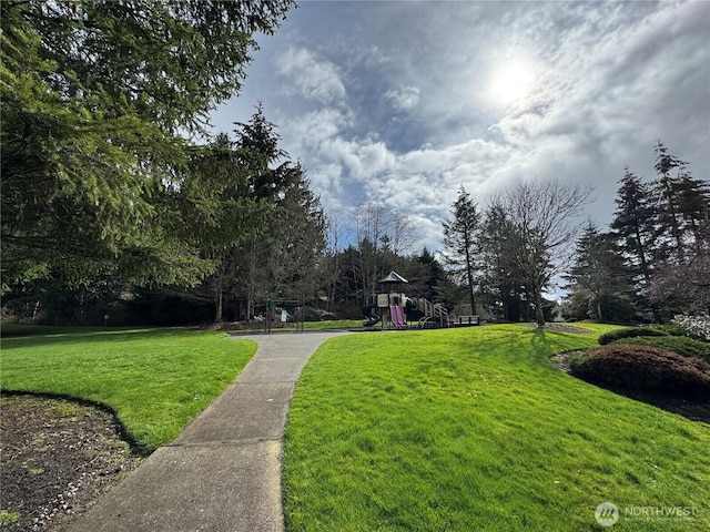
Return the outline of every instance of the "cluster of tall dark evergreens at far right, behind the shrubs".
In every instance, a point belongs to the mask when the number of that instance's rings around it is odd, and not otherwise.
[[[656,177],[625,168],[608,231],[587,224],[577,239],[569,314],[663,323],[710,311],[710,183],[655,146]]]

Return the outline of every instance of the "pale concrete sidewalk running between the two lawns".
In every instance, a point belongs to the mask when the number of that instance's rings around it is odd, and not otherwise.
[[[254,358],[170,446],[158,449],[70,532],[283,531],[288,401],[311,355],[343,332],[240,336]]]

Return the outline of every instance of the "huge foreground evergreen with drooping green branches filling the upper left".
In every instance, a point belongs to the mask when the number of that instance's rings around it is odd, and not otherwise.
[[[2,270],[194,284],[163,193],[290,0],[0,2]],[[59,270],[59,272],[58,272]]]

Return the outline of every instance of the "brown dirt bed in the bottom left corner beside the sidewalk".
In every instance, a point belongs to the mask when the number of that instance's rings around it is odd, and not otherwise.
[[[112,416],[62,399],[0,397],[0,530],[65,526],[141,457]]]

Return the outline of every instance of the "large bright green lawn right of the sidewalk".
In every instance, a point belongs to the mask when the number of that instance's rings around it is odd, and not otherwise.
[[[550,364],[608,330],[594,329],[331,340],[291,403],[287,530],[606,530],[595,509],[607,501],[621,512],[615,531],[710,530],[710,426]],[[663,508],[689,519],[649,514]]]

